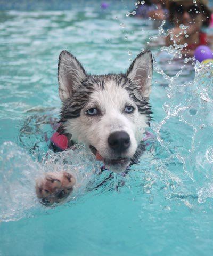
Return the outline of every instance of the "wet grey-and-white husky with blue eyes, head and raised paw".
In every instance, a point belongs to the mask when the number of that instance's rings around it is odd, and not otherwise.
[[[149,126],[153,76],[149,50],[137,55],[125,74],[88,75],[68,51],[59,57],[60,133],[83,143],[111,171],[123,172],[140,154]],[[44,205],[59,203],[73,190],[75,177],[47,173],[36,193]]]

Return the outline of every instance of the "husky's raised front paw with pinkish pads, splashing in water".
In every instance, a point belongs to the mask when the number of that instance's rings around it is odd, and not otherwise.
[[[36,194],[39,202],[45,206],[61,203],[70,195],[75,183],[75,177],[68,172],[47,173],[43,179],[36,183]]]

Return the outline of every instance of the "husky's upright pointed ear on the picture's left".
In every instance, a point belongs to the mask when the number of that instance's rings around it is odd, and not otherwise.
[[[72,97],[73,92],[85,78],[86,72],[80,62],[68,51],[62,51],[58,66],[60,99],[64,101]]]

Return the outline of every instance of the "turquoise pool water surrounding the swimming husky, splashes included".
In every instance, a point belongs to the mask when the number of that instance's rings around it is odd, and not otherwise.
[[[130,1],[108,2],[106,10],[99,1],[1,2],[1,256],[212,254],[213,67],[169,64],[149,39],[158,34],[153,21],[126,17]],[[150,45],[155,150],[125,177],[97,175],[84,147],[49,151],[61,50],[101,74],[125,71]],[[77,188],[46,209],[34,185],[50,170],[74,173]]]

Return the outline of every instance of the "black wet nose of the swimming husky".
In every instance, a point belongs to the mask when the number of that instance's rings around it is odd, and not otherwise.
[[[108,138],[108,144],[111,149],[117,153],[126,151],[130,146],[129,134],[124,131],[114,132]]]

